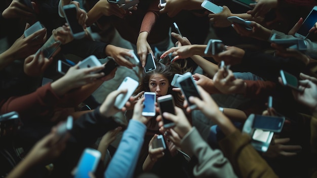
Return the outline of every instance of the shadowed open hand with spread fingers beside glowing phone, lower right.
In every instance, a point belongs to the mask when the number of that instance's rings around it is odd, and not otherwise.
[[[296,152],[299,152],[302,147],[299,145],[285,145],[289,141],[290,138],[274,138],[267,151],[263,153],[263,156],[268,158],[277,158],[297,155]]]

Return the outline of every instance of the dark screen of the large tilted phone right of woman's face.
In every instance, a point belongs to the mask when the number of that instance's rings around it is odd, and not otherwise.
[[[201,96],[199,95],[191,77],[188,77],[185,80],[179,82],[179,85],[182,88],[183,94],[185,95],[187,101],[188,101],[189,96],[201,98]],[[188,101],[188,104],[192,105],[192,103],[189,101]]]

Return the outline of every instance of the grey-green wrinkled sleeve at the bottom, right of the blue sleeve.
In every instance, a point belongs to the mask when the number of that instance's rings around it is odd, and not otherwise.
[[[230,162],[220,150],[211,149],[193,127],[181,141],[182,150],[198,159],[193,168],[195,177],[236,177]]]

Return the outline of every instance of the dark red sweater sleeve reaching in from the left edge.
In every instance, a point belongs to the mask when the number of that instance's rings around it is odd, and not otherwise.
[[[33,93],[2,100],[0,102],[1,113],[16,111],[22,121],[25,121],[26,118],[47,115],[59,100],[60,98],[54,93],[50,83],[38,88]]]

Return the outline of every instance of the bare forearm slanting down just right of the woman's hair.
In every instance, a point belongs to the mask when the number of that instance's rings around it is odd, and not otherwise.
[[[191,59],[207,73],[210,77],[213,77],[218,72],[218,65],[204,59],[202,56],[193,55]]]

